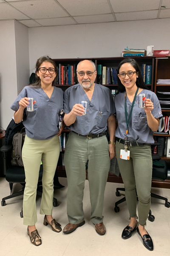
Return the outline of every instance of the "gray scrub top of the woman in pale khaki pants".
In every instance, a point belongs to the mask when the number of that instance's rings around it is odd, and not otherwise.
[[[17,111],[21,98],[34,98],[34,111],[26,111],[26,119],[23,125],[26,135],[34,140],[49,140],[59,132],[59,113],[63,108],[63,91],[54,87],[51,98],[42,88],[26,86],[11,105],[11,109]]]

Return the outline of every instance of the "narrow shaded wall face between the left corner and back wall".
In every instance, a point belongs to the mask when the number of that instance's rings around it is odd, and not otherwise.
[[[15,48],[17,63],[17,91],[29,84],[28,28],[15,21]]]

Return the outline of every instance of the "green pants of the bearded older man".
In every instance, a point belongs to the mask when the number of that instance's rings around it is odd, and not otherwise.
[[[70,132],[66,143],[64,163],[68,180],[67,214],[71,224],[84,220],[83,190],[88,161],[88,181],[91,200],[91,220],[103,222],[104,192],[110,169],[106,136],[89,139]]]

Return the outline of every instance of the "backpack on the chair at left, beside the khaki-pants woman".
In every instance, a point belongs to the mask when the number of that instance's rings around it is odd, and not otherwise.
[[[23,166],[22,160],[22,148],[26,137],[25,127],[20,132],[14,134],[12,139],[13,150],[11,151],[11,165],[12,166]]]

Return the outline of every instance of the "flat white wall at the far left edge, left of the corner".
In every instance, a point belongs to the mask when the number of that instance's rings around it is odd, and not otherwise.
[[[17,67],[14,20],[0,21],[0,126],[7,128],[17,97]]]

